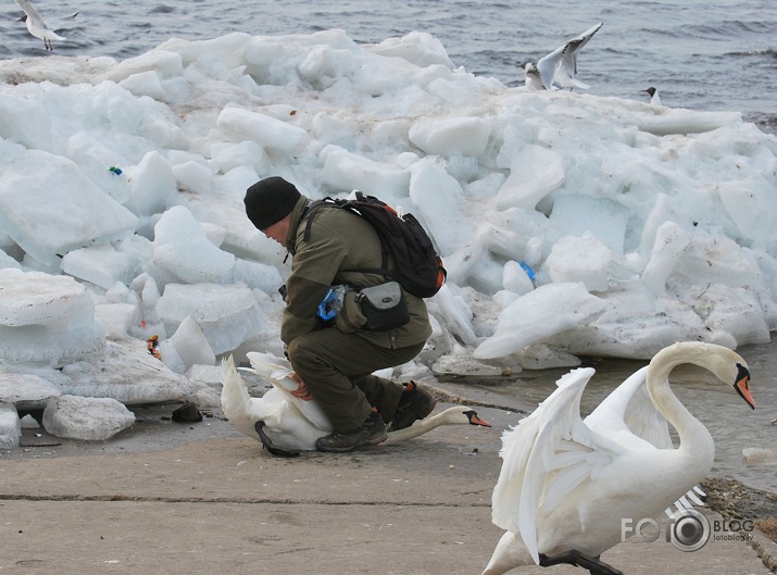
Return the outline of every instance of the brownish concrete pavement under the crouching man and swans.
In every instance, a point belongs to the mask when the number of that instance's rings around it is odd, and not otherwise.
[[[502,535],[490,497],[501,432],[517,416],[477,411],[492,429],[448,426],[296,459],[271,455],[217,417],[141,422],[100,443],[27,432],[39,447],[0,459],[0,575],[478,575]],[[695,552],[629,540],[602,559],[627,575],[769,573],[740,540]],[[587,573],[550,570],[511,573]]]

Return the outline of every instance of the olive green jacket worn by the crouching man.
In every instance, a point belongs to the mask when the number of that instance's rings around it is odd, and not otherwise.
[[[280,339],[287,346],[302,334],[317,328],[318,303],[330,286],[349,284],[363,288],[386,282],[379,274],[347,272],[380,267],[380,239],[373,226],[348,210],[322,208],[314,211],[310,237],[305,240],[309,203],[310,200],[302,196],[294,205],[286,240],[292,260],[291,275],[286,282]],[[389,259],[389,267],[392,265],[393,261]],[[406,291],[404,298],[410,311],[409,323],[389,332],[358,329],[355,334],[377,346],[392,349],[426,341],[431,335],[426,303]],[[337,328],[342,328],[339,317]]]

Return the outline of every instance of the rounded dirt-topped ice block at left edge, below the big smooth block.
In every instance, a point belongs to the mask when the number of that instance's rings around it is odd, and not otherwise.
[[[0,270],[0,361],[55,361],[101,351],[86,288],[72,277]]]

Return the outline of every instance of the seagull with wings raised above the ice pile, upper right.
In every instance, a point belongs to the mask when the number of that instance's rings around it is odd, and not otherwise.
[[[554,85],[562,88],[588,89],[586,84],[575,79],[577,75],[577,52],[588,43],[593,35],[602,27],[603,22],[588,28],[579,36],[575,36],[566,43],[560,46],[551,53],[540,58],[536,64],[523,64],[526,73],[526,87],[529,90],[552,90]]]

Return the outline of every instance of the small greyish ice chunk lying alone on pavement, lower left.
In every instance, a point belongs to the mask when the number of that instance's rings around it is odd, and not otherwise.
[[[135,423],[135,414],[111,398],[60,396],[43,410],[43,427],[51,435],[104,441]]]

